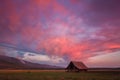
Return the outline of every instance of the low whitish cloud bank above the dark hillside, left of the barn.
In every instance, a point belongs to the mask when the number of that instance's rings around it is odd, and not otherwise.
[[[44,63],[44,64],[46,63],[60,64],[65,62],[63,58],[60,58],[58,56],[48,56],[48,55],[35,54],[30,52],[26,52],[22,59],[26,61]]]

